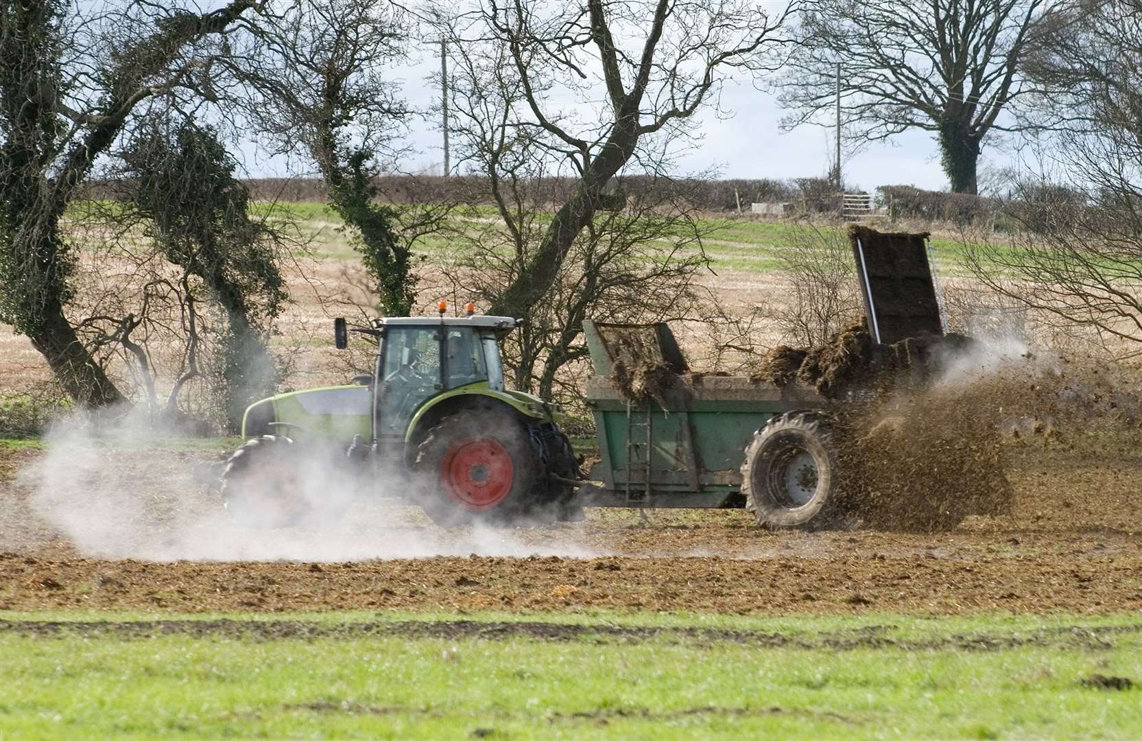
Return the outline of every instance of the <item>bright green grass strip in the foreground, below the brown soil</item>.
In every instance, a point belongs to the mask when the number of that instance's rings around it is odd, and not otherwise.
[[[159,618],[0,613],[0,738],[1127,738],[1142,707],[1089,686],[1142,678],[1135,617],[121,625]],[[32,635],[50,620],[105,625]]]

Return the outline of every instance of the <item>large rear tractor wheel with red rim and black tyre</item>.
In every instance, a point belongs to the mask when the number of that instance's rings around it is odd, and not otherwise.
[[[418,504],[439,525],[509,525],[532,509],[544,466],[524,424],[494,410],[442,419],[417,449]]]

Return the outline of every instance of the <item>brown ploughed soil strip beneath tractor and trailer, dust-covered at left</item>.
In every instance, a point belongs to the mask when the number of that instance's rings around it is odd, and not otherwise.
[[[642,522],[634,509],[442,530],[393,500],[332,525],[250,531],[193,482],[192,465],[217,453],[0,448],[0,610],[1121,613],[1142,610],[1133,450],[1013,445],[1012,515],[912,534],[767,532],[741,510]]]

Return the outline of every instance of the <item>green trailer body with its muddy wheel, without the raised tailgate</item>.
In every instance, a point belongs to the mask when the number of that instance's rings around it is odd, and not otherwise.
[[[754,512],[759,505],[763,522],[774,525],[802,524],[826,508],[835,493],[836,460],[826,424],[828,400],[814,389],[733,376],[683,380],[685,360],[665,323],[588,321],[584,333],[594,372],[586,397],[600,460],[577,504]],[[677,382],[641,400],[624,392],[614,371],[625,362],[622,348],[632,345],[641,362],[669,370]],[[764,480],[750,477],[751,472]]]

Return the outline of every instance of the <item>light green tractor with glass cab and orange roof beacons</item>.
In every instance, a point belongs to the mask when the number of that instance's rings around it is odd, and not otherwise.
[[[349,328],[375,337],[370,374],[348,386],[280,394],[251,404],[244,445],[226,461],[222,494],[250,526],[339,516],[353,498],[395,494],[437,524],[576,519],[579,466],[557,408],[509,390],[499,343],[507,316],[402,316]]]

